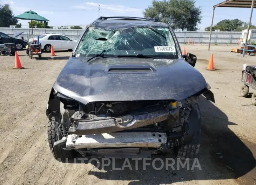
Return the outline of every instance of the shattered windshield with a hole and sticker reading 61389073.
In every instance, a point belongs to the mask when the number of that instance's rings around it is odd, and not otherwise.
[[[176,44],[168,28],[132,27],[101,29],[90,27],[81,39],[76,57],[95,54],[104,55],[150,55],[178,58]]]

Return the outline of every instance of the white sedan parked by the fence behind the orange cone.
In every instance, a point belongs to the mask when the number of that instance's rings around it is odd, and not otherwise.
[[[29,42],[32,42],[32,38]],[[34,38],[37,42],[37,38]],[[39,36],[39,43],[41,43],[42,50],[46,52],[51,51],[51,46],[54,50],[70,50],[72,51],[77,44],[77,40],[72,40],[65,35],[59,34],[46,34]]]

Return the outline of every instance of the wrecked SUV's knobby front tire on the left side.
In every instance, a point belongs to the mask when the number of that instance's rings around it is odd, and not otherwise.
[[[56,134],[55,128],[56,126],[56,122],[55,122],[55,118],[51,118],[50,121],[48,121],[48,127],[47,127],[47,131],[48,131],[48,143],[49,143],[49,147],[50,150],[52,151],[52,154],[54,156],[54,158],[56,160],[61,160],[61,162],[65,162],[66,158],[68,160],[71,160],[74,158],[74,151],[72,150],[64,150],[60,147],[54,147],[53,148],[53,143],[58,141],[59,136]],[[60,139],[62,139],[62,137],[60,136]]]

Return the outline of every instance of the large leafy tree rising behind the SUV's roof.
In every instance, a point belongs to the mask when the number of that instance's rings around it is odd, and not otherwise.
[[[201,23],[201,7],[194,0],[153,0],[143,12],[144,17],[155,17],[169,24],[174,30],[196,31]]]

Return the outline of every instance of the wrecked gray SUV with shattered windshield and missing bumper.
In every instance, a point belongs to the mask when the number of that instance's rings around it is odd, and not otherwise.
[[[100,17],[83,32],[50,92],[48,141],[55,158],[198,153],[198,96],[213,93],[156,19]]]

